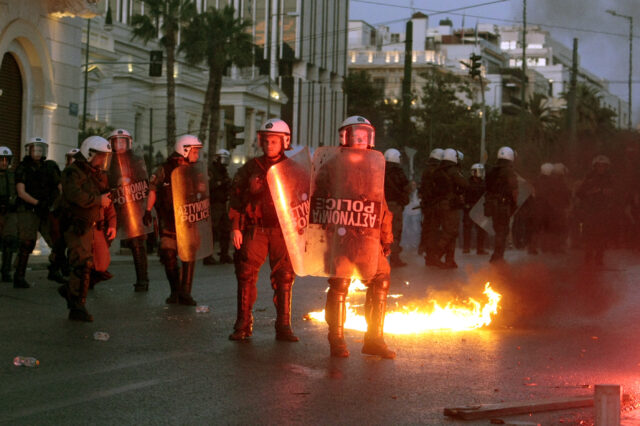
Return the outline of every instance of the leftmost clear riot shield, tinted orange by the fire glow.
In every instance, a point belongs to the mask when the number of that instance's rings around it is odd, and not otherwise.
[[[122,238],[135,238],[153,232],[145,226],[142,216],[147,208],[149,176],[144,160],[131,151],[115,154],[109,169],[109,186]]]

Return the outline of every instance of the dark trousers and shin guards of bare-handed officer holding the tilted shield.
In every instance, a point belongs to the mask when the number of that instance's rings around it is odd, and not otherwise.
[[[269,256],[271,288],[276,307],[276,331],[291,324],[291,288],[295,279],[282,230],[279,227],[248,226],[242,233],[242,246],[235,253],[238,279],[238,318],[235,330],[251,333],[252,309],[258,290],[258,271]]]

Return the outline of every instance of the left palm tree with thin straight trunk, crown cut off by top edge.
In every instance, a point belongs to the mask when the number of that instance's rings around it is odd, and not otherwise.
[[[144,15],[131,17],[133,38],[149,40],[160,37],[160,44],[167,54],[167,149],[173,149],[176,140],[176,83],[174,68],[178,34],[196,15],[195,2],[192,0],[142,0]]]

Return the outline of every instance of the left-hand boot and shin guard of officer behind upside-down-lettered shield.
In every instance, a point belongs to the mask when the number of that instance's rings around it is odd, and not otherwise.
[[[329,325],[329,347],[331,356],[347,358],[349,350],[344,340],[344,321],[347,318],[347,292],[350,280],[332,278],[330,281],[327,303],[325,305],[325,320]]]

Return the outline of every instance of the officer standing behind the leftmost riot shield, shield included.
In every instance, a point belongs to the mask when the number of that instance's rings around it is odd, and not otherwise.
[[[133,154],[133,138],[125,129],[116,129],[107,138],[114,152],[109,170],[109,186],[114,192],[114,206],[118,226],[123,231],[124,244],[131,250],[136,271],[134,291],[149,290],[147,272],[147,232],[142,223],[148,191],[147,171],[144,160]]]

